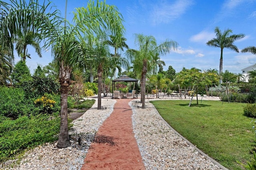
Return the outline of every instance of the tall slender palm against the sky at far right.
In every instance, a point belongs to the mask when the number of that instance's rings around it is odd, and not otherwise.
[[[219,27],[216,27],[214,32],[216,33],[216,38],[213,38],[212,40],[208,41],[206,45],[212,46],[212,47],[219,47],[220,48],[220,73],[223,72],[223,49],[228,48],[233,51],[236,51],[239,53],[238,47],[234,45],[234,41],[240,40],[244,38],[244,34],[232,34],[232,30],[226,29],[222,33]],[[222,78],[220,78],[220,83],[222,83]]]

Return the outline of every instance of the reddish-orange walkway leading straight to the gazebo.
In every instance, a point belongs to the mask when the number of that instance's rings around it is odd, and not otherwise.
[[[146,170],[132,133],[132,99],[116,99],[90,145],[81,170]]]

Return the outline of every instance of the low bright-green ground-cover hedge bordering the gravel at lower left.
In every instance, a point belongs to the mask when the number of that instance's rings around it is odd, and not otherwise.
[[[0,124],[0,161],[30,148],[57,140],[60,117],[48,120],[47,115],[19,117]]]

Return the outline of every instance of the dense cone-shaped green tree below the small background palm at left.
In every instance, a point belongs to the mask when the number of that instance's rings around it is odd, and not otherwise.
[[[11,77],[14,84],[20,84],[22,81],[29,81],[32,79],[26,61],[20,60],[14,65]]]

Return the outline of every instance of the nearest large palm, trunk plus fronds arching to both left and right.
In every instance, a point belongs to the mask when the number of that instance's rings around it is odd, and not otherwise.
[[[80,40],[87,34],[99,34],[104,30],[106,33],[117,36],[120,42],[124,34],[122,16],[115,6],[109,6],[105,2],[90,0],[86,8],[76,8],[74,12],[75,26],[60,18],[58,11],[48,12],[49,4],[39,5],[38,0],[23,0],[20,4],[16,0],[10,0],[10,4],[0,1],[4,5],[6,17],[2,18],[2,30],[10,34],[10,37],[17,37],[22,32],[32,30],[42,35],[45,40],[44,49],[52,49],[54,60],[59,65],[59,82],[61,85],[61,122],[60,135],[57,146],[65,148],[70,146],[68,136],[67,119],[67,94],[70,85],[70,75],[74,67],[84,68],[83,62],[88,55],[82,50]],[[10,12],[10,14],[9,14]],[[16,18],[19,16],[19,18]],[[24,22],[21,22],[23,21]],[[67,22],[67,21],[66,21]],[[65,22],[65,23],[66,23]],[[26,27],[28,26],[28,28]],[[1,37],[1,43],[4,38]]]

